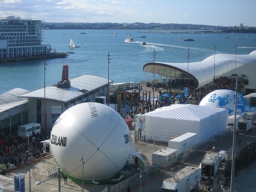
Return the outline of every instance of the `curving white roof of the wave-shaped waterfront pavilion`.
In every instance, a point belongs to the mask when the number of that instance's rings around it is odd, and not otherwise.
[[[253,52],[256,54],[256,51]],[[143,66],[143,71],[175,78],[181,77],[180,74],[186,75],[189,72],[189,77],[193,77],[193,79],[198,82],[197,88],[200,88],[212,82],[214,67],[215,76],[221,76],[234,68],[241,67],[242,65],[252,61],[253,52],[246,55],[215,54],[209,56],[203,61],[191,63],[151,62],[146,63]]]

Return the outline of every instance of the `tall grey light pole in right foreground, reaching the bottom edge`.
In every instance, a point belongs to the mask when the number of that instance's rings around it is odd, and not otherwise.
[[[235,99],[235,109],[234,109],[234,130],[233,130],[233,143],[232,143],[232,165],[231,165],[231,182],[230,182],[230,191],[234,191],[235,184],[235,149],[236,149],[236,106],[237,106],[237,77],[236,77],[236,99]]]

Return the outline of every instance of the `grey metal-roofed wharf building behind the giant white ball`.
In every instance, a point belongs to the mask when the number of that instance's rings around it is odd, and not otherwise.
[[[68,86],[63,86],[65,82],[33,92],[16,88],[1,94],[0,146],[6,136],[17,136],[19,125],[38,123],[43,134],[49,133],[57,118],[68,108],[108,95],[108,79],[104,77],[84,75],[68,79]]]

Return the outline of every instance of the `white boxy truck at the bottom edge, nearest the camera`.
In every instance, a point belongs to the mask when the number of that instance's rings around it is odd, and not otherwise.
[[[200,187],[201,169],[195,166],[185,166],[164,175],[161,192],[190,192]]]

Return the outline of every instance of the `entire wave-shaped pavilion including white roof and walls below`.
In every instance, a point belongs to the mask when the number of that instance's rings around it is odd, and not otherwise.
[[[243,55],[215,54],[191,63],[150,62],[143,66],[143,71],[164,77],[165,81],[167,78],[165,83],[173,81],[180,86],[188,86],[189,90],[203,88],[211,83],[220,88],[235,90],[232,80],[237,77],[238,91],[247,95],[256,90],[255,76],[252,74],[255,71],[255,53],[256,51]]]

